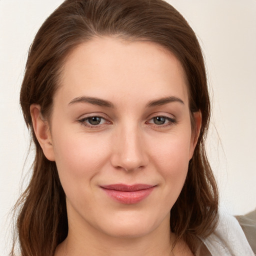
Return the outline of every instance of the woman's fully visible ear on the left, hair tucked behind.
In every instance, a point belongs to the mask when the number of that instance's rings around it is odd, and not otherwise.
[[[42,148],[45,157],[50,161],[54,161],[55,158],[51,141],[50,127],[48,121],[46,121],[41,115],[40,105],[30,105],[30,114],[35,136]]]

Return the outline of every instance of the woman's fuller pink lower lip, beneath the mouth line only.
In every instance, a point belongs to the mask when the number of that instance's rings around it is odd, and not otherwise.
[[[141,189],[137,191],[119,191],[101,187],[108,196],[112,199],[126,204],[138,203],[145,199],[153,190],[154,187]]]

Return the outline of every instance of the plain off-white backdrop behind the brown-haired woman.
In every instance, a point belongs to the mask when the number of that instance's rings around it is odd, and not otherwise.
[[[27,52],[62,0],[0,0],[0,255],[7,255],[11,207],[29,177],[33,152],[19,107]],[[256,0],[169,0],[196,32],[212,99],[207,139],[220,205],[256,207]],[[27,174],[28,173],[28,174]]]

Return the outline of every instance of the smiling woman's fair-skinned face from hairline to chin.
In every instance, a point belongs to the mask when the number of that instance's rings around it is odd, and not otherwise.
[[[196,143],[181,64],[152,42],[80,44],[64,63],[48,136],[69,232],[168,227]]]

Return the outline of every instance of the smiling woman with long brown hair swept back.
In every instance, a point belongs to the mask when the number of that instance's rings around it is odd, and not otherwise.
[[[203,58],[172,6],[64,1],[31,45],[20,104],[36,146],[21,255],[222,253]]]

